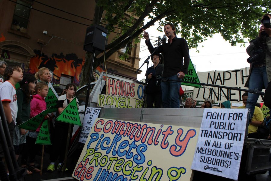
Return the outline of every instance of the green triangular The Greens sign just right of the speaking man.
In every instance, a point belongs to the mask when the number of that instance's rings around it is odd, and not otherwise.
[[[191,59],[190,59],[189,65],[188,65],[188,73],[187,73],[187,75],[185,75],[185,78],[183,78],[182,81],[191,82],[191,83],[182,82],[182,85],[188,85],[188,86],[201,88],[201,85],[193,84],[193,82],[200,83],[200,81],[198,79],[197,72],[195,71],[195,68],[194,68],[194,65],[192,64]]]

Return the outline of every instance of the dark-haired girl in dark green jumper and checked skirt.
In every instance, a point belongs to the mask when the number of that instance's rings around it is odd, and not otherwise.
[[[18,105],[18,113],[16,118],[17,124],[14,129],[13,138],[13,145],[17,159],[26,143],[26,133],[28,132],[28,130],[19,128],[18,125],[30,119],[30,100],[36,86],[36,78],[31,74],[24,74],[23,80],[20,81],[19,84],[20,89],[16,91]],[[32,174],[30,170],[27,170],[27,173]]]

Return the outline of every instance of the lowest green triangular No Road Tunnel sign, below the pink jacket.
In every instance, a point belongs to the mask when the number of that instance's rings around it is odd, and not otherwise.
[[[42,127],[39,130],[36,144],[51,144],[50,132],[48,128],[48,119],[42,123]]]

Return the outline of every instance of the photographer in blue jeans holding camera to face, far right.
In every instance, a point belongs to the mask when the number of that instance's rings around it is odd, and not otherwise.
[[[271,81],[271,14],[265,14],[262,17],[262,24],[259,30],[259,35],[256,39],[251,40],[247,48],[247,53],[250,56],[248,80],[245,87],[251,90],[258,89],[262,91]],[[258,94],[248,94],[246,108],[250,109],[250,119],[254,113],[255,104],[259,98]]]

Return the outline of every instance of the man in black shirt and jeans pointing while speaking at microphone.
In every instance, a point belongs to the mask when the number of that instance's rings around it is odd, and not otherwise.
[[[143,37],[149,51],[152,53],[155,48],[151,45],[148,32],[144,29]],[[168,42],[158,46],[158,52],[164,53],[164,74],[163,79],[182,80],[187,74],[189,65],[189,49],[183,38],[176,37],[176,28],[172,23],[164,26],[164,33]],[[181,83],[177,81],[161,82],[163,108],[179,108],[179,90]]]

